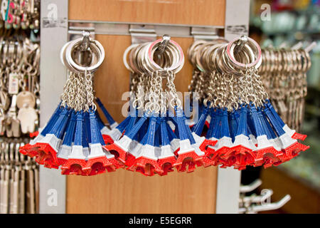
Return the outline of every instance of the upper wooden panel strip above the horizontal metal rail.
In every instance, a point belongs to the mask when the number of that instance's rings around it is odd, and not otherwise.
[[[225,25],[225,0],[69,0],[70,20]]]

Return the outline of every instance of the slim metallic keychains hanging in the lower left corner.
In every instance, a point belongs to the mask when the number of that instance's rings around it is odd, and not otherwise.
[[[26,142],[26,138],[0,142],[0,214],[38,212],[38,164],[18,152]]]

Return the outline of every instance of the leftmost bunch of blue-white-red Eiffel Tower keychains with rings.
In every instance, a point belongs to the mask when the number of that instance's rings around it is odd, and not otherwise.
[[[97,114],[92,88],[92,73],[101,65],[105,51],[85,33],[84,38],[66,43],[60,56],[69,70],[60,104],[39,135],[20,152],[36,157],[45,167],[60,167],[64,175],[112,172],[122,164],[105,149],[102,132],[110,129]],[[97,103],[102,105],[99,99]]]

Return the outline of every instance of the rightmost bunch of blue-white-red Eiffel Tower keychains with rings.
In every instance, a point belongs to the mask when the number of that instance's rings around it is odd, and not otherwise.
[[[216,142],[206,157],[213,165],[244,170],[291,160],[309,147],[274,110],[258,74],[260,46],[242,36],[227,42],[196,41],[188,50],[195,67],[189,89],[198,92],[199,120],[191,130]]]

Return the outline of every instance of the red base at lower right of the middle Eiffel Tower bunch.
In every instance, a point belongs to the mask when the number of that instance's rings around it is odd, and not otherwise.
[[[176,167],[179,172],[193,172],[196,170],[196,165],[203,166],[203,161],[202,157],[198,156],[194,150],[178,155],[178,159],[176,163],[174,163],[174,167]]]

